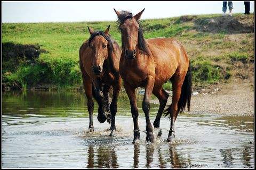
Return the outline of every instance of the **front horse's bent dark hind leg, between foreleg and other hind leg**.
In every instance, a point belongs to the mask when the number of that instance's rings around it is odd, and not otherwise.
[[[159,100],[159,109],[156,115],[156,119],[153,123],[154,128],[159,128],[160,125],[160,118],[164,112],[164,107],[167,103],[167,99],[169,97],[168,93],[161,87],[160,89],[153,89],[153,94],[158,98]]]

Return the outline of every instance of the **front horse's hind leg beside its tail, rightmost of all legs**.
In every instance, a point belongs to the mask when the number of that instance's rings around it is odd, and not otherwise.
[[[174,123],[178,116],[178,102],[180,99],[181,88],[185,77],[181,78],[179,74],[174,74],[172,82],[172,104],[171,104],[171,127],[168,134],[167,142],[175,138]]]

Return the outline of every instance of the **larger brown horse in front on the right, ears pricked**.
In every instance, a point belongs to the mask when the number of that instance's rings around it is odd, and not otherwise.
[[[188,111],[190,107],[191,70],[189,58],[184,47],[173,38],[143,38],[139,19],[144,10],[134,16],[131,12],[115,10],[122,33],[122,54],[119,68],[131,104],[134,123],[133,143],[139,141],[140,138],[135,89],[145,87],[142,109],[147,123],[146,140],[154,142],[153,128],[149,120],[149,101],[152,93],[159,100],[160,106],[154,121],[154,127],[159,128],[160,118],[169,97],[162,86],[168,80],[171,80],[173,87],[172,104],[166,109],[166,115],[170,114],[171,118],[167,141],[171,141],[174,138],[174,122],[178,113],[185,109],[186,103]]]

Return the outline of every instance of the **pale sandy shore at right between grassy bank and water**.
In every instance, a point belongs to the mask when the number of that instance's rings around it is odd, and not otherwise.
[[[191,96],[189,114],[254,116],[253,89],[253,80],[233,80],[231,83],[214,85],[208,90],[199,90],[198,95]],[[158,99],[153,100],[153,103],[158,103]],[[167,105],[171,102],[170,96]]]

